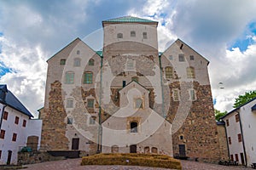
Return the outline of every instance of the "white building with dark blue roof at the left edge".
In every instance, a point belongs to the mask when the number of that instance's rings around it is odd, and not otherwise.
[[[38,150],[42,121],[32,117],[7,85],[0,85],[0,164],[16,164],[24,146]]]

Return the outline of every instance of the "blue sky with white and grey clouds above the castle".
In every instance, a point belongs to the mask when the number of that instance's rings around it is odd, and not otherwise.
[[[159,50],[177,38],[210,61],[214,108],[231,111],[256,90],[255,0],[0,0],[0,84],[34,116],[44,105],[46,60],[76,37],[102,48],[102,20],[156,20]]]

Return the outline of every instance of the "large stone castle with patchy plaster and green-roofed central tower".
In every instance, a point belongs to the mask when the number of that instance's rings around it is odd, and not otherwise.
[[[209,61],[180,39],[160,53],[157,25],[105,20],[102,51],[77,38],[47,61],[45,150],[222,157]]]

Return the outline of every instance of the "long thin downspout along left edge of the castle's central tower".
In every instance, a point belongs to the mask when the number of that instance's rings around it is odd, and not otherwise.
[[[100,99],[99,99],[99,128],[98,128],[98,144],[97,154],[102,152],[102,63],[103,56],[101,57],[101,79],[100,79]]]

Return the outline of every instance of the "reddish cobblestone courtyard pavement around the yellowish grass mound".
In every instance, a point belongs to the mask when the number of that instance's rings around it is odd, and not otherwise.
[[[67,159],[64,161],[47,161],[38,164],[26,165],[27,170],[166,170],[166,168],[155,167],[133,167],[133,166],[80,166],[80,159]],[[183,170],[248,170],[249,167],[227,167],[198,161],[181,161]]]

